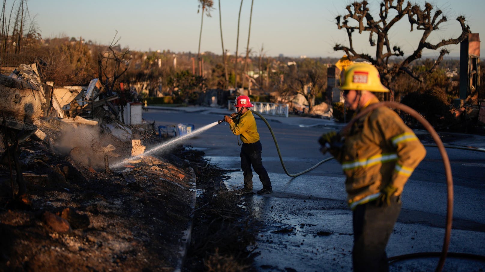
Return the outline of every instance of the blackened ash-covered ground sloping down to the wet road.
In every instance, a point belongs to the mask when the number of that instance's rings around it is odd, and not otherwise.
[[[100,153],[127,158],[131,143],[100,134],[2,149],[0,271],[254,270],[258,224],[227,192],[224,170],[182,146],[106,169]],[[167,141],[140,138],[147,148]]]

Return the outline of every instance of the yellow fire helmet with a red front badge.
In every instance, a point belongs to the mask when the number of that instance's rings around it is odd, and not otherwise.
[[[372,64],[355,63],[343,71],[340,90],[389,92],[381,83],[379,72]]]

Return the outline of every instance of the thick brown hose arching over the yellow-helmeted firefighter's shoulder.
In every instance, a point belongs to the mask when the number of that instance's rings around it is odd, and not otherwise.
[[[445,174],[446,174],[446,186],[447,186],[447,205],[446,205],[446,229],[445,229],[445,237],[443,239],[443,248],[441,251],[441,254],[439,256],[439,262],[438,265],[436,266],[436,272],[441,272],[443,269],[443,265],[445,264],[445,259],[448,253],[448,247],[450,245],[450,236],[451,236],[451,231],[452,231],[452,221],[453,221],[453,178],[452,178],[452,169],[450,165],[450,160],[448,158],[448,154],[446,153],[445,147],[443,143],[441,142],[441,139],[439,138],[438,134],[436,133],[435,129],[431,124],[426,121],[417,111],[414,109],[405,106],[403,104],[397,103],[397,102],[392,102],[392,101],[385,101],[385,102],[380,102],[377,104],[372,104],[371,106],[368,106],[361,112],[359,112],[349,123],[340,131],[340,135],[344,136],[346,135],[350,128],[352,127],[352,124],[359,119],[360,117],[366,115],[370,111],[374,110],[377,107],[380,106],[388,106],[391,108],[397,108],[400,110],[403,110],[404,112],[408,113],[412,117],[414,117],[416,120],[420,121],[420,123],[426,128],[426,130],[431,134],[433,139],[436,142],[436,145],[439,149],[439,152],[441,153],[441,157],[443,158],[443,164],[445,166]],[[429,253],[416,253],[414,256],[420,256],[420,255],[429,255]],[[390,257],[388,260],[395,260],[398,259],[400,256],[396,257]]]

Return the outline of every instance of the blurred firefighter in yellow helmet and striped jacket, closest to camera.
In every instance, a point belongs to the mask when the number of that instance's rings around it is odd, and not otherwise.
[[[372,92],[388,92],[371,64],[344,71],[340,89],[345,106],[356,113],[379,103]],[[329,151],[346,176],[347,201],[353,210],[354,271],[388,271],[386,245],[401,211],[404,183],[426,150],[404,121],[388,107],[356,120],[348,135],[323,134],[321,151]]]

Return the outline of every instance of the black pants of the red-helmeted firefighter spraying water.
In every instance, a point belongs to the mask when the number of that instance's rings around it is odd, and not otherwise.
[[[263,188],[271,189],[271,181],[268,172],[261,162],[261,142],[257,141],[252,144],[242,143],[241,146],[241,169],[244,175],[244,188],[253,189],[253,166],[254,171],[263,183]]]

